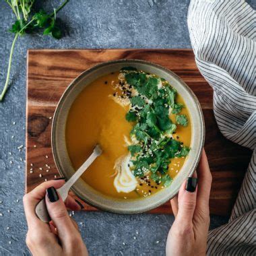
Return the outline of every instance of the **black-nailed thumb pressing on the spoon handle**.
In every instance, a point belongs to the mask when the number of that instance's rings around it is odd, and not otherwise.
[[[49,187],[46,189],[46,207],[53,220],[59,238],[64,241],[67,236],[72,234],[75,227],[71,222],[69,215],[67,214],[67,209],[61,197],[57,193],[55,187]]]

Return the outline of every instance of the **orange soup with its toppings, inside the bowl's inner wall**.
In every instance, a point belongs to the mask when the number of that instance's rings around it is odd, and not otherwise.
[[[127,75],[127,73],[131,75]],[[92,154],[96,144],[100,144],[102,155],[86,170],[82,179],[96,189],[96,191],[119,199],[146,197],[156,193],[160,189],[164,189],[164,184],[171,186],[171,180],[181,170],[186,159],[186,154],[189,154],[191,143],[189,111],[181,96],[173,90],[175,103],[172,105],[172,109],[166,103],[163,104],[164,102],[154,97],[153,94],[159,94],[159,92],[152,92],[150,94],[149,97],[152,97],[152,100],[146,96],[141,96],[131,86],[135,81],[133,77],[139,77],[139,75],[135,71],[129,71],[128,69],[127,71],[118,71],[99,77],[92,84],[86,86],[79,96],[77,96],[69,110],[66,123],[66,146],[73,168],[75,170],[78,169],[86,158]],[[127,82],[128,80],[125,80],[126,76],[127,79],[130,79],[131,84]],[[150,83],[154,85],[158,82],[156,88],[162,88],[163,92],[165,92],[164,87],[169,86],[164,79],[160,80],[160,78],[154,75],[151,78],[149,74],[145,73],[143,77],[148,79],[148,82],[145,82],[147,83],[145,86],[150,86]],[[139,86],[138,84],[133,85]],[[136,90],[138,92],[141,90],[143,93],[144,91],[142,89],[137,87]],[[145,94],[148,95],[147,93],[146,91]],[[168,97],[164,93],[163,95],[163,97]],[[171,99],[168,98],[168,100]],[[134,104],[131,104],[131,102]],[[171,101],[170,104],[172,104]],[[144,115],[142,111],[146,107],[149,111],[146,114],[144,113],[146,115],[143,120],[144,124],[137,125],[141,130],[135,130],[135,125],[142,122],[141,120]],[[170,112],[168,113],[169,121],[166,117],[162,116],[161,111],[166,111],[164,107]],[[172,112],[177,114],[173,114]],[[177,117],[178,112],[179,117]],[[131,114],[132,117],[129,117],[127,113]],[[166,127],[170,128],[167,129]],[[141,131],[144,137],[139,137],[139,131]],[[134,135],[132,135],[133,132]],[[166,154],[173,156],[169,162],[166,155],[161,153],[164,152],[165,148],[160,150],[158,142],[154,142],[154,137],[161,138],[161,143],[166,143],[166,145],[170,146],[170,150],[166,150]],[[159,139],[156,139],[156,141],[159,141]],[[154,146],[154,143],[156,146]],[[146,150],[147,147],[148,150]],[[171,147],[175,148],[172,149]],[[187,153],[185,154],[184,152],[186,150]],[[146,156],[147,152],[152,153],[150,156]],[[154,152],[157,154],[157,157],[154,155]],[[129,156],[129,158],[122,158],[122,156]],[[122,180],[123,178],[119,177],[120,180],[117,181],[117,175],[120,176],[124,172],[120,166],[117,168],[118,159],[121,159],[121,161],[122,159],[127,159],[128,161],[127,166],[129,166],[129,169],[125,173],[125,175],[128,175],[128,178],[127,176],[124,178],[129,179],[129,185],[127,186],[123,184],[125,183],[125,180]],[[145,166],[141,164],[142,167],[140,168],[139,160],[144,161]],[[163,162],[168,164],[167,170]],[[143,173],[141,173],[142,171]],[[154,179],[152,179],[153,175]],[[123,185],[126,186],[125,189],[122,189]],[[132,185],[132,191],[129,191],[130,185]]]

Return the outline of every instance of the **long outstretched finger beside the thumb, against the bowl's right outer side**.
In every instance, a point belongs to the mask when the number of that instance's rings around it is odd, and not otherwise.
[[[199,210],[209,210],[209,198],[212,185],[212,174],[210,172],[209,164],[205,150],[201,155],[201,160],[197,167],[198,174],[198,193],[197,193],[197,207]]]

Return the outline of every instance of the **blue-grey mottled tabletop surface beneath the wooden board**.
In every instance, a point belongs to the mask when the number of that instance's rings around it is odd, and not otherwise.
[[[40,1],[38,1],[40,2]],[[55,7],[59,1],[44,1]],[[48,3],[48,4],[47,4]],[[255,7],[255,1],[249,1]],[[0,103],[0,255],[29,255],[25,244],[24,158],[26,118],[26,50],[40,48],[191,48],[187,30],[189,0],[76,0],[59,13],[66,36],[27,35],[15,46],[11,86]],[[0,1],[0,88],[7,69],[14,16]],[[13,123],[15,122],[15,123]],[[78,212],[90,255],[164,255],[172,216]],[[227,218],[211,217],[211,228]]]

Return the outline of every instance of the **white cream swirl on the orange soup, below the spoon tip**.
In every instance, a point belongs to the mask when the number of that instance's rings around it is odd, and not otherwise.
[[[128,154],[127,156],[121,156],[115,162],[114,168],[117,170],[117,176],[114,180],[114,186],[119,193],[129,193],[137,187],[137,179],[128,166],[130,160],[131,154]]]

